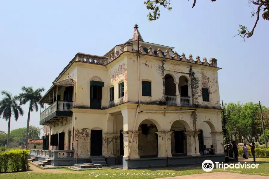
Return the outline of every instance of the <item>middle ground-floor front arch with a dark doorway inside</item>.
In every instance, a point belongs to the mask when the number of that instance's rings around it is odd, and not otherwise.
[[[185,121],[178,120],[173,122],[170,131],[173,131],[171,134],[172,156],[187,155],[187,140],[184,132],[189,131],[189,125]]]

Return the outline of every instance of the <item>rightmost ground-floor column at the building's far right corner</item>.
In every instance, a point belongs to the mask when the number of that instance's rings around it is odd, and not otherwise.
[[[209,132],[212,138],[212,145],[215,154],[224,154],[223,148],[223,132]]]

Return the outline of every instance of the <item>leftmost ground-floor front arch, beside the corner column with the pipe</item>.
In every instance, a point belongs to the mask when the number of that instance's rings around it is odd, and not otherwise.
[[[145,119],[139,124],[138,155],[140,158],[158,156],[158,135],[156,134],[158,124],[156,126],[155,123]]]

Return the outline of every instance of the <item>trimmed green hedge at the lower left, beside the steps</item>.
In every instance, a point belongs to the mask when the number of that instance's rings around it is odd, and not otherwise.
[[[25,171],[25,159],[27,168],[29,167],[29,150],[11,149],[0,152],[0,172],[19,172]]]

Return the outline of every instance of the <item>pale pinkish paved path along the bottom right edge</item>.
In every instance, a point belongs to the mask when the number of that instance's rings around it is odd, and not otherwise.
[[[230,173],[230,172],[214,172],[214,173],[202,173],[195,175],[184,175],[177,177],[167,177],[165,179],[223,179],[223,178],[236,178],[236,179],[246,179],[246,178],[255,178],[255,179],[269,179],[268,176],[260,176],[260,175],[247,175],[241,173]],[[157,178],[161,179],[161,178]],[[163,178],[162,178],[163,179]]]

